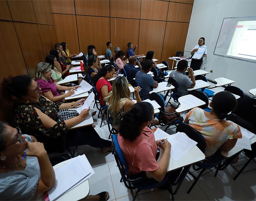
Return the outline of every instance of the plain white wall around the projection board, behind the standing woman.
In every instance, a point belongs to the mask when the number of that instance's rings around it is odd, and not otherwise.
[[[208,78],[214,80],[226,77],[234,80],[232,85],[241,88],[245,93],[256,88],[256,64],[213,53],[223,18],[256,16],[255,8],[254,0],[195,0],[184,50],[185,56],[189,56],[198,39],[204,37],[208,52],[207,64],[203,68],[208,72],[213,71],[207,75]]]

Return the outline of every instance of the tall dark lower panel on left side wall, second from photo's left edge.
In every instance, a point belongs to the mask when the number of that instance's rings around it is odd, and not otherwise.
[[[36,65],[40,61],[44,61],[44,52],[42,50],[37,24],[14,22],[14,26],[29,76],[34,77]]]

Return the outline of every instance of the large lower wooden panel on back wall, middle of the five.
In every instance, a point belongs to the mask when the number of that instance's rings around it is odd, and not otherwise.
[[[113,45],[112,52],[114,54],[114,48],[119,47],[124,52],[127,52],[127,43],[132,42],[133,46],[138,45],[139,38],[139,23],[138,19],[123,19],[123,18],[111,18],[111,43]],[[132,30],[128,31],[128,30]],[[132,34],[131,34],[132,33]],[[137,54],[138,51],[135,51]],[[125,53],[126,56],[126,53]]]

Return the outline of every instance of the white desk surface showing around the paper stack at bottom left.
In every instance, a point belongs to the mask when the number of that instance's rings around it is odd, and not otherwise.
[[[59,168],[68,162],[69,162],[68,160],[65,160],[65,161],[53,166],[53,168],[54,169]],[[89,180],[87,179],[83,183],[80,183],[78,186],[76,186],[74,189],[68,191],[63,196],[59,197],[57,200],[60,200],[60,201],[81,200],[82,198],[88,196],[89,191],[90,191],[90,186],[89,186]]]

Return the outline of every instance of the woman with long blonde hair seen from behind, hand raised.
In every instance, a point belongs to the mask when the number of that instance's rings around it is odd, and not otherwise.
[[[136,96],[137,103],[141,102],[140,87],[134,88],[134,93]],[[106,104],[109,105],[110,114],[114,122],[119,122],[120,118],[125,112],[131,110],[131,107],[135,104],[129,97],[131,92],[128,86],[128,80],[125,76],[118,76],[112,84],[112,93],[106,96]],[[116,130],[118,130],[119,125],[112,125]]]

